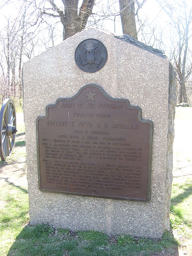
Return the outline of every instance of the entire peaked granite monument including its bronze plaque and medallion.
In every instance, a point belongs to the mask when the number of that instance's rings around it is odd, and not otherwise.
[[[23,64],[30,223],[169,230],[176,91],[163,52],[85,29]]]

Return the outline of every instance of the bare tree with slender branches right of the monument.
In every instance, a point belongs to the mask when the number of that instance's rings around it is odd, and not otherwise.
[[[171,48],[169,58],[177,73],[178,101],[189,102],[186,82],[192,74],[191,51],[189,41],[192,39],[192,7],[187,0],[180,3],[159,0],[160,5],[169,17]],[[190,7],[189,7],[190,6]]]

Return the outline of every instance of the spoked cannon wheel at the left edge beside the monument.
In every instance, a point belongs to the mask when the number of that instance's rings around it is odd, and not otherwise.
[[[16,111],[12,99],[5,99],[0,111],[0,158],[6,161],[6,157],[12,154],[15,145]]]

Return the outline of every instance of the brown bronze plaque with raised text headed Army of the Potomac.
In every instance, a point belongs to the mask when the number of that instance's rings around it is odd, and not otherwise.
[[[153,123],[95,84],[37,118],[39,189],[148,201]]]

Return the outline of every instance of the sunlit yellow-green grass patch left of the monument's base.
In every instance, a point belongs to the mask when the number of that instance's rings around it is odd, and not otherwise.
[[[0,255],[6,255],[29,221],[27,190],[6,184],[0,187]]]

